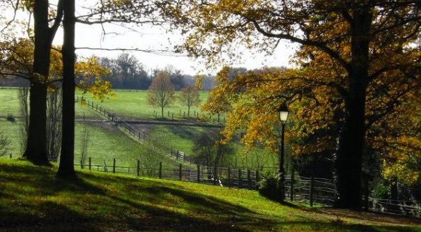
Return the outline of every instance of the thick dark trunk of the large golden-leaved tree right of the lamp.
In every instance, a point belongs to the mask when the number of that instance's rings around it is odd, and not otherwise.
[[[346,116],[337,150],[336,174],[339,199],[337,207],[360,210],[362,153],[365,141],[365,97],[369,68],[369,8],[353,11],[351,36],[351,73]]]

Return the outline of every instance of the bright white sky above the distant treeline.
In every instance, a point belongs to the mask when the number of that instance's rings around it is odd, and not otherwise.
[[[53,0],[54,1],[54,0]],[[52,1],[52,2],[53,2]],[[84,3],[93,0],[77,1]],[[54,4],[54,3],[53,3]],[[83,9],[77,6],[77,13],[81,13]],[[2,13],[3,14],[3,13]],[[11,12],[6,12],[4,15],[12,15]],[[27,20],[27,16],[22,16],[22,19]],[[107,34],[104,36],[102,29],[105,29]],[[181,44],[181,36],[174,32],[168,32],[158,26],[144,25],[142,28],[132,27],[130,29],[123,28],[114,24],[106,24],[102,26],[76,24],[75,46],[103,48],[103,49],[148,49],[148,50],[169,50],[174,48],[174,45]],[[63,31],[59,29],[55,38],[54,45],[61,45],[63,42]],[[261,68],[263,66],[289,66],[289,57],[293,55],[296,45],[289,42],[280,42],[277,49],[272,56],[264,56],[263,54],[255,54],[247,52],[243,49],[244,58],[237,60],[236,63],[227,63],[234,67],[244,67],[248,69]],[[116,58],[122,51],[105,51],[93,49],[77,49],[78,56],[101,56]],[[142,63],[148,70],[155,68],[164,68],[167,65],[172,65],[178,70],[182,70],[187,75],[197,74],[215,74],[222,67],[206,68],[201,64],[200,60],[192,59],[183,54],[153,54],[149,52],[128,52],[135,56],[140,63]]]

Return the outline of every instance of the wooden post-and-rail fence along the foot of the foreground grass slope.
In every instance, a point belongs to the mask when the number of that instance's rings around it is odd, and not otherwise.
[[[89,159],[91,160],[91,159]],[[166,180],[180,180],[207,185],[220,185],[246,190],[258,190],[257,183],[261,180],[261,171],[250,169],[236,169],[235,167],[207,167],[197,165],[196,168],[162,167],[162,162],[155,168],[142,167],[138,160],[133,167],[121,167],[107,164],[75,164],[75,167],[91,171],[108,173],[122,173],[131,176],[144,176]],[[333,206],[337,199],[335,181],[326,178],[305,176],[285,176],[285,197],[289,201],[309,203],[310,206]],[[408,215],[421,217],[421,201],[392,201],[390,199],[368,198],[368,210],[385,212],[393,215]],[[364,201],[364,197],[362,198]]]

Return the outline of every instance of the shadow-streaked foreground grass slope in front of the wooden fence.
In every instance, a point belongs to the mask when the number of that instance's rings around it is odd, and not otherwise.
[[[0,160],[0,231],[421,231],[420,220],[282,206],[257,192]]]

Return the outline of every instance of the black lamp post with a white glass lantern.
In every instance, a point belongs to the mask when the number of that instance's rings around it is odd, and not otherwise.
[[[285,200],[285,169],[284,169],[284,157],[285,157],[285,149],[284,149],[284,134],[285,134],[285,124],[286,120],[288,119],[288,108],[285,104],[282,104],[280,109],[280,121],[282,126],[281,131],[281,149],[280,149],[280,195],[281,195],[281,201],[283,202]]]

